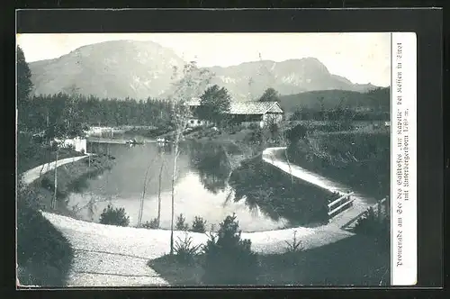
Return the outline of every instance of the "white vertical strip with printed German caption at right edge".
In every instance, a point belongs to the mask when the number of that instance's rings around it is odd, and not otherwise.
[[[391,33],[391,283],[416,285],[417,228],[417,38]]]

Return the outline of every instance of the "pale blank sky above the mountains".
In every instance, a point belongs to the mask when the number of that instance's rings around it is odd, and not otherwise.
[[[28,62],[55,59],[103,41],[154,41],[199,67],[313,57],[353,83],[389,86],[390,33],[32,33],[17,34]]]

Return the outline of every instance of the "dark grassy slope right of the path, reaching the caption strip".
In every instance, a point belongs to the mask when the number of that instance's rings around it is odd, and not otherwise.
[[[290,144],[291,162],[381,199],[390,192],[389,131],[318,132]]]

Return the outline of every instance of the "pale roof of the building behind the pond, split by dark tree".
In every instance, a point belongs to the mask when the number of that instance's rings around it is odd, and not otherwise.
[[[193,99],[188,102],[190,106],[199,106],[200,99]],[[283,109],[277,102],[231,102],[229,104],[229,114],[247,115],[247,114],[266,114],[283,113]]]

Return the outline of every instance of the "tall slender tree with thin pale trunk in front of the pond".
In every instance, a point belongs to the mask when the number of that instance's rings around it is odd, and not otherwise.
[[[187,102],[202,94],[203,90],[211,82],[211,73],[206,69],[199,69],[194,61],[186,64],[182,73],[174,67],[175,90],[170,96],[172,123],[175,127],[173,132],[173,152],[174,164],[172,174],[172,190],[171,190],[171,224],[170,224],[170,254],[174,254],[174,219],[175,219],[175,180],[176,180],[176,163],[180,155],[179,142],[183,136],[184,128],[187,124],[189,109]]]

